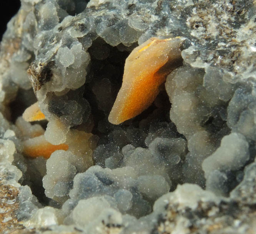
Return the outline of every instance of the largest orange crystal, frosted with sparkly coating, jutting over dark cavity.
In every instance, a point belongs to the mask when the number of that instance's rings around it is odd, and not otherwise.
[[[146,110],[159,93],[166,75],[182,63],[180,37],[150,38],[127,57],[123,83],[108,121],[120,124]]]

